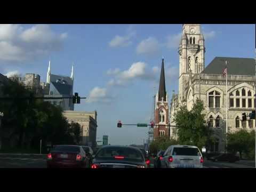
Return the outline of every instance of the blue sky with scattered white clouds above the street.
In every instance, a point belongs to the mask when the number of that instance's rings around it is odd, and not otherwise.
[[[142,145],[148,128],[123,124],[153,118],[162,58],[166,91],[178,93],[182,25],[0,25],[0,73],[70,76],[81,97],[77,111],[97,110],[97,140]],[[254,25],[201,25],[205,66],[215,57],[255,58]],[[170,104],[170,100],[169,100]]]

